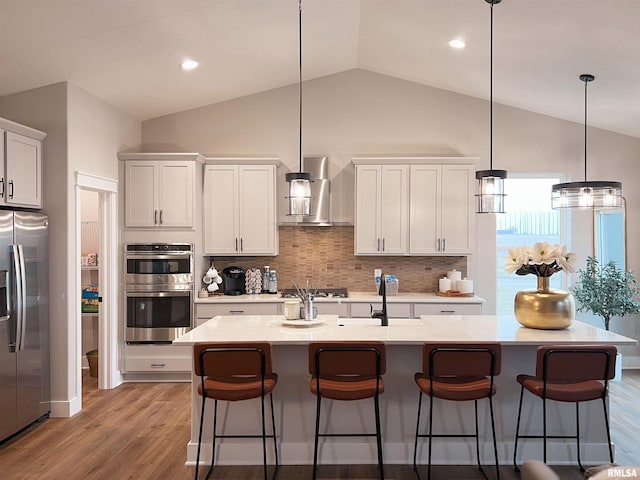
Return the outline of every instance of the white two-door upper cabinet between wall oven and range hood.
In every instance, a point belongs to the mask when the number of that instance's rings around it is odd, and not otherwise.
[[[277,255],[275,164],[207,164],[204,255]]]

